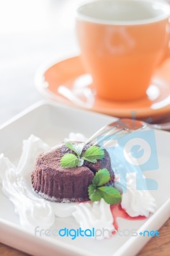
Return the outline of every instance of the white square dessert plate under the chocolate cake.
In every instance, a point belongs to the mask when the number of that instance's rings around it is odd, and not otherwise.
[[[76,108],[68,108],[59,104],[39,102],[31,106],[23,113],[0,127],[0,153],[4,153],[14,164],[19,161],[22,152],[22,140],[30,134],[42,138],[51,147],[60,143],[69,132],[81,132],[85,136],[91,136],[100,127],[115,118],[98,113],[92,113]],[[90,127],[89,127],[89,124]],[[120,230],[136,229],[138,236],[117,236],[110,239],[97,241],[90,237],[41,237],[35,236],[29,229],[20,225],[19,216],[15,213],[13,204],[0,189],[0,241],[31,255],[114,255],[133,256],[151,236],[140,236],[144,230],[158,230],[169,218],[169,145],[170,134],[168,132],[155,131],[158,170],[145,172],[147,179],[158,182],[158,190],[151,191],[157,202],[157,210],[150,218],[144,220],[118,219]],[[56,218],[55,228],[79,228],[73,218]],[[161,236],[161,234],[160,234]]]

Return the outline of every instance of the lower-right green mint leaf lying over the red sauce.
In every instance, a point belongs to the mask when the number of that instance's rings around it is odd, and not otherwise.
[[[97,189],[107,204],[118,204],[121,202],[121,194],[116,188],[103,186]]]

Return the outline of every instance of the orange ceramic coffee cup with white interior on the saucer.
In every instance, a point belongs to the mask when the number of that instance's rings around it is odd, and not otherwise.
[[[150,0],[100,0],[77,9],[82,63],[98,97],[146,96],[155,68],[169,51],[169,15],[169,4]]]

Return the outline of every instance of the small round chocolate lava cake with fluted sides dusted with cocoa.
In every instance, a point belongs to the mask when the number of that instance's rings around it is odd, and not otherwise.
[[[90,147],[86,145],[82,153]],[[47,153],[40,154],[36,159],[35,171],[31,175],[33,189],[43,198],[55,202],[81,202],[89,200],[88,186],[92,183],[95,173],[101,168],[107,168],[114,182],[114,172],[111,168],[109,153],[97,163],[84,161],[82,166],[73,168],[61,167],[60,160],[66,153],[75,154],[65,144]]]

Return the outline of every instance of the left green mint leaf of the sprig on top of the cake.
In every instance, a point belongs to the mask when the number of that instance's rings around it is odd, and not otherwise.
[[[61,158],[60,164],[64,168],[73,168],[79,164],[79,159],[74,154],[65,154]]]

